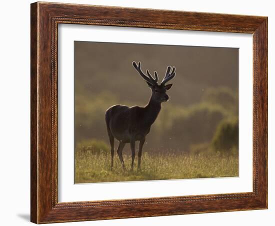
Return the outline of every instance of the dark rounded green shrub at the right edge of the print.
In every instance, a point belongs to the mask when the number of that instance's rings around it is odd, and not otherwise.
[[[238,149],[238,119],[222,120],[216,128],[211,144],[218,151]]]

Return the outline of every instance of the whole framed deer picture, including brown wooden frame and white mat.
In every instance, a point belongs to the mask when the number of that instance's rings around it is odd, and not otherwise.
[[[266,209],[267,20],[31,3],[31,222]]]

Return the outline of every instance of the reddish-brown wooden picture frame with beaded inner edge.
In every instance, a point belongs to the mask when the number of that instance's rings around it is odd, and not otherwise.
[[[30,218],[35,223],[267,208],[267,17],[81,4],[31,4]],[[57,25],[253,34],[253,191],[104,201],[57,201]]]

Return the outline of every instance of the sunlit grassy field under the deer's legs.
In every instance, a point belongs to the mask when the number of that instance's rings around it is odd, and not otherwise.
[[[126,166],[121,168],[115,152],[114,166],[110,170],[110,153],[101,151],[76,151],[75,153],[75,183],[112,182],[134,180],[184,179],[238,176],[237,154],[220,154],[207,152],[203,154],[183,153],[142,153],[141,170],[138,171],[137,157],[134,170],[130,170],[131,157],[128,153],[123,157]]]

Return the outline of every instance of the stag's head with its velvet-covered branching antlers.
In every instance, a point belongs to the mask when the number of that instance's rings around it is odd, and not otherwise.
[[[133,67],[137,70],[140,76],[146,81],[148,86],[152,90],[152,99],[157,102],[164,102],[169,99],[169,96],[166,94],[166,91],[172,87],[173,84],[165,84],[167,81],[171,80],[175,76],[175,67],[171,69],[171,66],[167,66],[167,70],[165,76],[163,77],[160,84],[157,83],[158,75],[156,71],[154,71],[154,78],[150,74],[149,70],[146,70],[146,74],[144,74],[141,70],[141,63],[138,62],[136,64],[135,61],[132,62]]]

